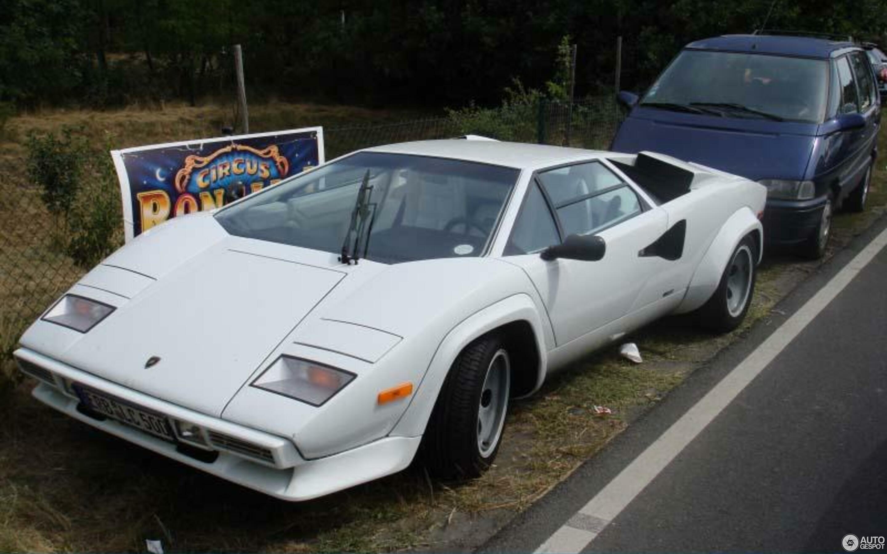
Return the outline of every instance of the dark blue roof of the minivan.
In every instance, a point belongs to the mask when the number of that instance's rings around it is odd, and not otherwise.
[[[810,36],[723,35],[689,43],[685,48],[693,50],[747,51],[759,54],[828,59],[831,57],[832,52],[848,48],[859,48],[859,45],[848,41],[832,41]]]

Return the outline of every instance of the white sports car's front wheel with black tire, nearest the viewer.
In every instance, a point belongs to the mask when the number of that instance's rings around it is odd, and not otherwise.
[[[424,462],[436,477],[472,479],[490,467],[505,430],[510,372],[508,352],[502,339],[495,334],[476,339],[453,362],[422,440]],[[488,376],[494,375],[499,378],[495,390],[488,382]],[[486,408],[483,402],[487,403]],[[497,411],[492,423],[482,431],[483,423],[488,421],[482,413],[489,415],[491,407],[498,410],[499,406],[501,415]],[[490,430],[494,432],[488,433]],[[490,440],[483,441],[487,435]]]

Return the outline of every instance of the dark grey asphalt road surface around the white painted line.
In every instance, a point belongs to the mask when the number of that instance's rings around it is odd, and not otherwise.
[[[887,535],[887,248],[613,519],[577,514],[885,226],[837,254],[770,324],[696,371],[481,550],[536,550],[565,524],[593,530],[591,542],[577,542],[584,551],[843,552],[845,534]]]

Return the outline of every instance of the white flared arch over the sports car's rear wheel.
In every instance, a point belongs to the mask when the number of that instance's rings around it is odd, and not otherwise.
[[[757,262],[761,261],[764,244],[764,228],[750,207],[741,207],[727,218],[715,239],[711,241],[702,261],[696,266],[684,300],[675,313],[685,313],[700,308],[718,288],[726,263],[739,242],[750,232],[757,231]]]

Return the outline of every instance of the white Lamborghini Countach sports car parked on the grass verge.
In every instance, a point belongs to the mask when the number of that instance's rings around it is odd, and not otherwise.
[[[765,197],[648,152],[370,148],[145,232],[15,356],[51,407],[282,499],[472,477],[553,371],[666,314],[739,324]]]

